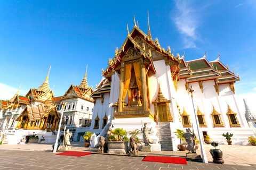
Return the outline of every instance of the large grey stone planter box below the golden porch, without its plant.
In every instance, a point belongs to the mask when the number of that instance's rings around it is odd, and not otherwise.
[[[108,154],[124,155],[128,151],[129,141],[108,141]]]

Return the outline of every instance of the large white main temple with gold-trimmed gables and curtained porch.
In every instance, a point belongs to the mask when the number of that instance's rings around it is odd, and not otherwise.
[[[192,61],[185,60],[185,53],[174,56],[170,46],[164,49],[157,38],[152,39],[149,20],[147,34],[139,29],[135,19],[132,31],[128,25],[127,30],[121,48],[116,48],[114,58],[109,58],[107,68],[102,69],[105,78],[91,95],[94,109],[90,132],[105,135],[106,124],[129,132],[141,130],[142,124],[147,123],[153,128],[150,134],[153,150],[166,149],[161,135],[167,134],[170,139],[167,145],[171,148],[166,150],[175,151],[179,140],[174,132],[186,131],[193,125],[195,130],[196,114],[201,136],[209,134],[214,141],[227,144],[221,134],[230,132],[234,133],[234,145],[248,143],[252,132],[237,105],[234,86],[240,80],[239,75],[220,61],[220,55],[211,62],[206,52]]]

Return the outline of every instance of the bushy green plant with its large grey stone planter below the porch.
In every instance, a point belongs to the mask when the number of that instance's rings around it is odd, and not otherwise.
[[[126,154],[128,150],[127,132],[123,128],[112,130],[113,135],[108,137],[108,153],[109,154]]]

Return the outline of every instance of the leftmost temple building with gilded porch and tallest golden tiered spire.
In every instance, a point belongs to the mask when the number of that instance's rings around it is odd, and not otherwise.
[[[52,102],[54,95],[49,88],[49,73],[42,85],[37,89],[30,89],[27,95],[20,96],[18,90],[11,100],[1,100],[0,128],[1,134],[5,133],[7,137],[4,143],[17,144],[23,135],[28,140],[33,133],[38,137],[48,136],[47,142],[53,142],[60,113]]]

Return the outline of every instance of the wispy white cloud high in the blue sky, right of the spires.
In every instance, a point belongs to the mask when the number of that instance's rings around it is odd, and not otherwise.
[[[182,35],[183,44],[186,48],[196,48],[194,41],[197,38],[196,28],[198,27],[198,19],[196,11],[189,7],[187,1],[177,1],[176,7],[178,9],[173,21],[178,31]]]

